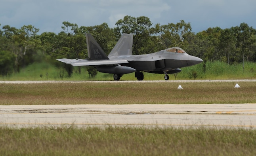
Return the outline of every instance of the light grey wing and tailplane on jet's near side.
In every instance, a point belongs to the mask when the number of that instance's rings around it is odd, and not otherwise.
[[[127,60],[86,60],[86,59],[57,59],[63,63],[71,64],[72,66],[95,66],[95,65],[115,65],[128,63]]]

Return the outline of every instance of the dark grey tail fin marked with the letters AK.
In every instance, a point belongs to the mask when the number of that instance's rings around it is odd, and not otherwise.
[[[86,33],[86,43],[90,60],[109,59],[91,34]]]

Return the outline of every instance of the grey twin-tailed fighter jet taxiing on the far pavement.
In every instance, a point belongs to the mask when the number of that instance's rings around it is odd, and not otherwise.
[[[122,34],[107,56],[93,36],[86,33],[88,59],[57,59],[72,66],[92,66],[99,72],[114,74],[120,80],[124,74],[135,72],[137,80],[143,80],[143,72],[168,74],[180,72],[180,68],[201,63],[199,57],[187,54],[179,47],[164,49],[155,53],[132,55],[133,34]]]

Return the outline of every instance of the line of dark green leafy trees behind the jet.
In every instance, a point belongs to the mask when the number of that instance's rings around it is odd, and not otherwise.
[[[78,27],[67,21],[62,31],[43,32],[32,25],[20,29],[5,25],[0,29],[0,75],[19,72],[31,63],[48,61],[56,67],[67,70],[69,76],[73,67],[59,63],[59,58],[88,58],[86,36],[94,36],[101,48],[109,54],[121,34],[134,34],[133,55],[147,54],[170,47],[180,47],[190,55],[206,61],[222,61],[228,64],[245,61],[256,62],[256,29],[246,23],[221,29],[212,27],[201,32],[192,32],[190,23],[180,20],[167,25],[152,23],[148,17],[125,16],[109,28],[107,23],[91,27]]]

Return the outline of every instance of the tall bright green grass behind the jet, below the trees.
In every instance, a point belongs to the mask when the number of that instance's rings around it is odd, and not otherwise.
[[[196,72],[196,79],[256,79],[256,63],[245,63],[245,71],[243,65],[228,65],[222,62],[207,62],[199,65],[181,68],[176,80],[194,80],[193,72]],[[78,72],[78,67],[74,67],[73,75],[67,76],[67,72],[63,68],[56,68],[48,63],[34,63],[25,68],[22,68],[19,73],[13,73],[11,76],[0,76],[0,80],[113,80],[113,74],[105,74],[97,72],[95,78],[90,78],[86,67],[80,67],[81,73]],[[63,75],[61,78],[60,75]],[[134,73],[124,74],[120,80],[137,80]],[[144,72],[144,80],[164,80],[164,74],[151,74]],[[174,74],[170,74],[170,80],[175,80]]]

